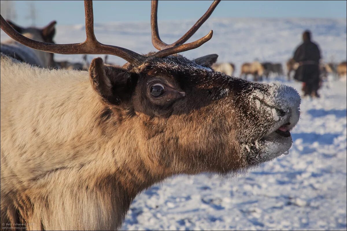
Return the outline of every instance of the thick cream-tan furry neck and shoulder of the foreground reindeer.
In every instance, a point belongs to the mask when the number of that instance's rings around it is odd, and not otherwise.
[[[16,192],[18,203],[28,192],[49,198],[49,207],[34,207],[23,221],[42,221],[46,229],[93,229],[96,224],[95,229],[115,229],[138,193],[169,176],[142,150],[140,118],[105,106],[85,71],[28,68],[2,60],[5,98],[1,123],[10,132],[2,132],[8,142],[1,148],[8,159],[17,160],[9,167],[17,169],[11,181],[21,183],[3,195]],[[23,206],[29,210],[32,204]],[[64,222],[56,211],[64,213]]]

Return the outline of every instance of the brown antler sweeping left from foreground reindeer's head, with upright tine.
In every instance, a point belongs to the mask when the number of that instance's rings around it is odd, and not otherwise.
[[[146,60],[145,56],[137,54],[136,52],[130,51],[126,48],[99,43],[94,35],[92,1],[85,0],[84,7],[87,38],[83,43],[52,44],[35,41],[18,33],[6,22],[2,16],[0,18],[0,25],[1,29],[15,41],[40,51],[57,54],[110,54],[121,57],[129,63],[137,66],[141,65]]]

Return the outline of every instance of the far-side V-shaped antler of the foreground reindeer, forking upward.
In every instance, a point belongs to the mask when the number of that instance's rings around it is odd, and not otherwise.
[[[194,24],[194,26],[192,26],[192,28],[189,29],[188,32],[186,34],[184,34],[180,39],[178,39],[176,42],[174,42],[172,44],[166,44],[163,41],[161,41],[161,39],[159,37],[158,17],[157,17],[158,1],[152,0],[151,29],[152,29],[152,44],[153,44],[153,46],[158,50],[162,50],[165,48],[169,48],[169,47],[173,47],[173,46],[177,46],[177,45],[181,45],[181,44],[185,43],[190,37],[193,36],[193,34],[201,27],[201,25],[210,17],[210,15],[212,14],[213,10],[217,7],[219,2],[220,2],[220,0],[213,1],[210,8],[205,12],[205,14],[199,20],[197,20],[196,23]],[[196,48],[196,47],[194,47],[194,48]],[[191,49],[188,49],[188,50],[191,50]]]

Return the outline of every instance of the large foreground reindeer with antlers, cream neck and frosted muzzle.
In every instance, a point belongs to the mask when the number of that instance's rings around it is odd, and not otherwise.
[[[1,29],[34,49],[109,54],[87,71],[39,69],[1,56],[1,223],[28,230],[114,230],[142,190],[177,174],[245,171],[286,152],[300,97],[279,83],[215,72],[215,55],[188,60],[185,42],[214,1],[173,44],[161,41],[152,1],[152,43],[138,54],[99,43],[85,1],[86,41],[49,44]],[[5,227],[6,228],[6,227]]]

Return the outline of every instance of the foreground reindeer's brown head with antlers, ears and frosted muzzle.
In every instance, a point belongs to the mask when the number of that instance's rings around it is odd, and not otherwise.
[[[279,83],[260,84],[215,72],[217,55],[188,60],[177,54],[197,48],[212,37],[184,44],[211,15],[219,1],[178,41],[163,43],[158,35],[157,2],[152,1],[152,42],[159,52],[140,55],[99,43],[93,32],[92,2],[85,1],[87,39],[80,44],[32,41],[1,28],[19,42],[60,54],[113,54],[122,67],[92,61],[91,83],[105,109],[100,126],[110,136],[130,129],[131,140],[170,173],[202,171],[225,174],[269,161],[289,150],[290,130],[299,119],[300,97]],[[127,139],[130,139],[127,137]]]

